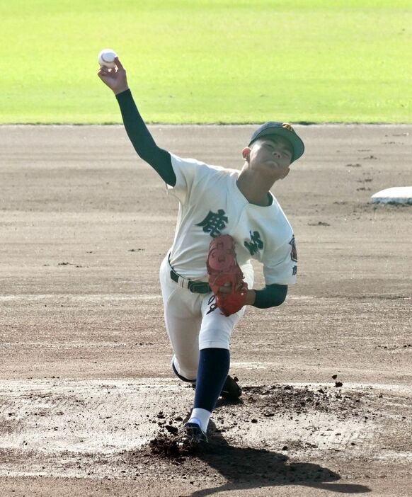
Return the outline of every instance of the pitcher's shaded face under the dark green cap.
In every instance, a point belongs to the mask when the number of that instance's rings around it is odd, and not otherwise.
[[[293,150],[287,139],[279,136],[261,138],[251,145],[248,156],[251,168],[268,174],[273,180],[286,178]]]

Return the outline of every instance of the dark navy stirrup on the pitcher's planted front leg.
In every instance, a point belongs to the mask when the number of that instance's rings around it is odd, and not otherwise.
[[[219,399],[230,365],[230,353],[226,348],[200,350],[198,378],[196,379],[195,408],[210,413]]]

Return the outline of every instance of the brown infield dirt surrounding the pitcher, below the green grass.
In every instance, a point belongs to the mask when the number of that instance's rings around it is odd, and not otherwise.
[[[234,168],[253,130],[151,127]],[[412,206],[369,203],[412,184],[412,127],[297,130],[298,283],[235,329],[207,450],[166,457],[193,399],[158,282],[176,200],[120,126],[0,127],[1,496],[412,495]]]

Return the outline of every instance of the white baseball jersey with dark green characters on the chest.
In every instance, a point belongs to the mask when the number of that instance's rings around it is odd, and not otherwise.
[[[240,171],[209,166],[171,154],[176,185],[168,190],[179,200],[170,263],[176,273],[207,281],[206,260],[212,237],[229,234],[237,261],[247,275],[251,258],[263,264],[265,284],[296,281],[297,253],[290,222],[275,197],[268,207],[253,205],[239,190]]]

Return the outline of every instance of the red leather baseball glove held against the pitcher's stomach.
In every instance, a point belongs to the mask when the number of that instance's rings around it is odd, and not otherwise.
[[[246,302],[248,284],[244,273],[236,261],[234,239],[230,235],[220,235],[210,242],[207,254],[207,274],[209,285],[216,297],[216,305],[225,316],[238,312]],[[230,289],[224,293],[220,287]]]

